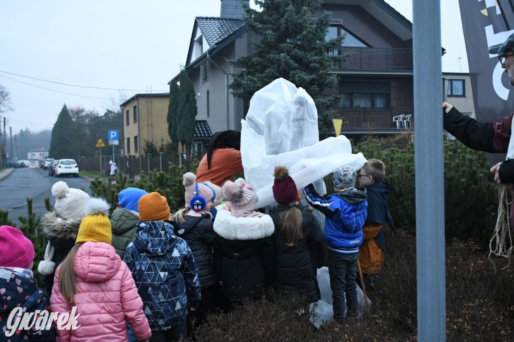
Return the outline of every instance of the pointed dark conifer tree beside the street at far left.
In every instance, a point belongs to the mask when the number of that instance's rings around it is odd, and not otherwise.
[[[63,105],[59,117],[52,128],[49,157],[74,158],[76,155],[75,122],[71,119],[68,107]]]

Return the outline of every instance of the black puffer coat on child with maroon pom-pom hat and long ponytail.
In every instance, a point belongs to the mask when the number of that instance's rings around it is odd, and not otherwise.
[[[280,217],[291,209],[279,204],[269,213],[275,224],[275,232],[271,236],[275,250],[275,288],[281,292],[297,292],[304,295],[307,302],[313,302],[318,300],[318,292],[315,260],[311,259],[311,254],[315,254],[323,241],[323,232],[309,208],[301,204],[296,208],[302,213],[302,239],[294,247],[286,246],[285,237],[280,231]]]

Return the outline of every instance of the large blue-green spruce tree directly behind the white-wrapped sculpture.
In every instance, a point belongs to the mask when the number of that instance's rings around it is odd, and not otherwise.
[[[253,53],[231,61],[235,67],[243,69],[232,75],[229,85],[232,94],[250,100],[255,91],[284,78],[309,93],[321,119],[320,110],[331,108],[338,100],[337,95],[324,92],[337,86],[337,76],[329,71],[345,59],[341,54],[329,55],[341,46],[342,37],[325,41],[332,13],[325,11],[314,18],[322,1],[254,2],[262,11],[245,6],[243,19],[258,39],[253,42]],[[326,118],[324,120],[326,122]]]

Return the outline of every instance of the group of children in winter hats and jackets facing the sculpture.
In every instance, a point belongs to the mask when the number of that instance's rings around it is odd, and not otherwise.
[[[16,306],[28,312],[49,306],[59,318],[76,307],[80,328],[60,330],[56,320],[55,329],[22,330],[11,341],[170,341],[186,336],[207,314],[259,298],[268,287],[315,302],[323,237],[334,319],[344,321],[344,298],[348,314],[356,314],[359,253],[367,258],[368,274],[383,265],[381,227],[390,219],[393,189],[383,176],[383,163],[370,160],[360,170],[365,187],[355,187],[357,174],[347,167],[334,173],[330,195],[306,186],[308,204],[326,216],[324,233],[283,166],[274,170],[278,204],[269,215],[255,210],[255,192],[243,179],[220,188],[186,173],[185,205],[175,214],[160,194],[126,188],[110,218],[103,199],[57,182],[54,211],[42,220],[48,244],[38,270],[46,292],[36,288],[30,271],[31,242],[13,227],[0,227],[0,304],[7,304],[0,308],[0,328],[5,331]],[[225,203],[217,205],[221,198]],[[23,291],[19,281],[27,284]]]

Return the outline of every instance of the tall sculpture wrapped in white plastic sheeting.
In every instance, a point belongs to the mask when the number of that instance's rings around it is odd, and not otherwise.
[[[319,141],[313,99],[284,79],[255,92],[241,123],[245,180],[256,190],[258,207],[275,203],[271,187],[277,165],[289,168],[298,188],[315,183],[317,191],[325,194],[324,176],[342,165],[358,170],[366,162],[361,153],[352,154],[350,141],[344,136]]]

